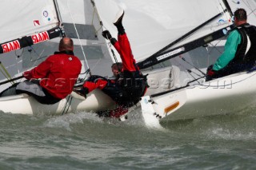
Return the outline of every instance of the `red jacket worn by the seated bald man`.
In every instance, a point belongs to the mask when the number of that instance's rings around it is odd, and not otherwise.
[[[82,64],[71,51],[54,53],[40,65],[23,73],[26,79],[42,78],[40,85],[58,99],[72,92]]]

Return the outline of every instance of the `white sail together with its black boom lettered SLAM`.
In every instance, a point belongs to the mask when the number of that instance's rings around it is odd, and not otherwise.
[[[54,0],[2,0],[0,53],[58,37],[61,30]]]

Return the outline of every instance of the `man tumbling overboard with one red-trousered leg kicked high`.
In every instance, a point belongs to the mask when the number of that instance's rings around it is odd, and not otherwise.
[[[119,12],[116,22],[114,22],[114,26],[118,29],[118,41],[112,38],[108,30],[102,32],[102,36],[110,40],[122,59],[122,67],[119,67],[118,71],[112,65],[112,71],[114,74],[118,74],[118,77],[115,80],[111,80],[105,77],[91,76],[86,80],[82,89],[76,90],[77,93],[86,95],[94,89],[102,89],[104,93],[109,95],[120,106],[115,111],[109,113],[108,116],[110,117],[120,117],[123,113],[127,112],[129,107],[138,103],[140,97],[146,93],[147,86],[146,77],[142,75],[136,65],[130,49],[130,42],[122,26],[123,16],[124,11],[122,10]]]

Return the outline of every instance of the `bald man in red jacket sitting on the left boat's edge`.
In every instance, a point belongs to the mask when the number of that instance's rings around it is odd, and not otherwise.
[[[34,69],[23,73],[30,81],[19,83],[16,93],[28,93],[42,104],[54,104],[69,95],[82,68],[81,61],[74,56],[73,49],[72,39],[62,38],[59,52],[47,57],[46,61]]]

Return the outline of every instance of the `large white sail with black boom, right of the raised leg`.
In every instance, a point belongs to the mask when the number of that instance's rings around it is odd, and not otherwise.
[[[140,65],[142,68],[165,61],[174,54],[185,53],[188,51],[185,47],[178,47],[220,31],[220,35],[207,37],[203,43],[213,41],[214,38],[226,34],[226,30],[223,33],[222,29],[232,25],[230,9],[226,1],[222,0],[94,2],[103,26],[114,34],[117,34],[117,31],[111,22],[114,21],[118,10],[125,8],[123,25],[130,39],[134,57],[137,61],[143,61]],[[175,50],[172,51],[173,49]]]

